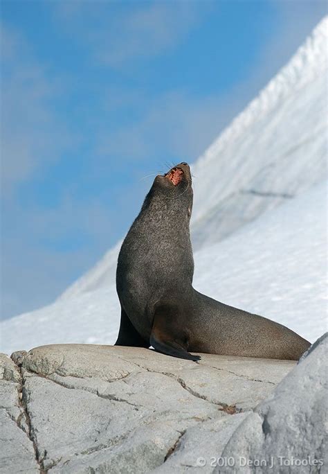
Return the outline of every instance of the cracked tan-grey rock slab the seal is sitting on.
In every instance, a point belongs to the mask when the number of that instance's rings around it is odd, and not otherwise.
[[[17,366],[8,360],[3,373],[19,380],[28,416],[26,432],[16,427],[19,436],[37,469],[54,473],[197,468],[197,457],[223,451],[250,410],[295,366],[210,354],[195,363],[147,349],[88,344],[19,351],[12,354]],[[14,437],[6,443],[10,452]],[[24,466],[21,471],[29,472]],[[16,462],[6,472],[17,469]]]

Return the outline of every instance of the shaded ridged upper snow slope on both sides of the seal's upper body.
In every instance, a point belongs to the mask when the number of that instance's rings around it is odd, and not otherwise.
[[[219,242],[326,174],[327,41],[326,17],[192,166],[194,250]],[[109,286],[119,248],[60,298]]]

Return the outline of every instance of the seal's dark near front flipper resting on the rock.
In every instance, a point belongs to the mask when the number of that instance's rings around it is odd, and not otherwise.
[[[150,344],[154,349],[167,356],[179,357],[187,360],[200,360],[200,356],[193,356],[186,348],[188,339],[181,334],[176,325],[179,310],[169,304],[157,306],[154,315]]]

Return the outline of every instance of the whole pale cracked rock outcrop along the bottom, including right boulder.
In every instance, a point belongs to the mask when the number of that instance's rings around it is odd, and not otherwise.
[[[286,453],[291,441],[290,454],[311,454],[312,435],[320,459],[324,344],[296,367],[87,344],[3,355],[0,472],[208,473],[220,456]]]

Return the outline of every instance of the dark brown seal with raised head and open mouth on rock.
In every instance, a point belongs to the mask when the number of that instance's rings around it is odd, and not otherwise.
[[[192,200],[187,163],[154,179],[118,256],[116,345],[153,346],[189,360],[200,359],[190,352],[298,360],[310,346],[307,340],[192,287]]]

